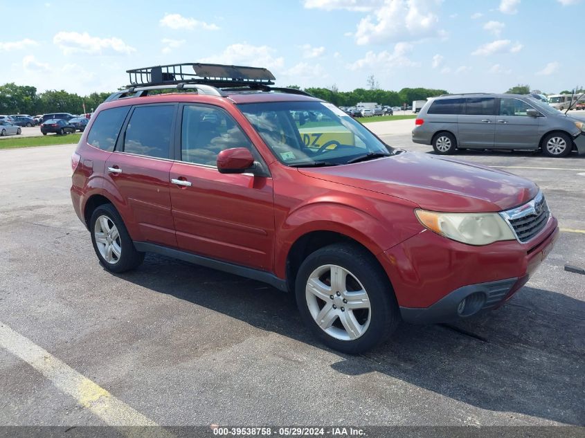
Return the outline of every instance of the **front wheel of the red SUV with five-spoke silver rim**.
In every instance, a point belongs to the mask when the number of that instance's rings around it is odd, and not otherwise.
[[[345,280],[329,286],[332,275]],[[357,291],[363,292],[361,299]],[[366,352],[388,339],[400,321],[388,277],[375,257],[354,244],[333,244],[309,255],[298,270],[295,294],[305,325],[340,352]]]

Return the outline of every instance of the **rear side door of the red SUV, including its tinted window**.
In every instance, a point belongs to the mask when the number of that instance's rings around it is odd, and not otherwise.
[[[134,107],[106,163],[106,182],[114,185],[116,207],[136,241],[177,246],[169,190],[176,112],[177,104]]]

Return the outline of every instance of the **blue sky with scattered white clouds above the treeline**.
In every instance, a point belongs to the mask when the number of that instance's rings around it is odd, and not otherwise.
[[[0,84],[112,91],[125,70],[264,66],[286,86],[556,93],[585,82],[584,0],[0,0]],[[13,19],[6,19],[13,17]],[[580,29],[580,30],[579,30]]]

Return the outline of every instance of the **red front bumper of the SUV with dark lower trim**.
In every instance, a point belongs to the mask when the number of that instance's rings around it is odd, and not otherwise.
[[[379,260],[406,322],[447,322],[509,300],[528,282],[558,237],[554,217],[530,244],[499,241],[470,246],[426,230],[390,248]]]

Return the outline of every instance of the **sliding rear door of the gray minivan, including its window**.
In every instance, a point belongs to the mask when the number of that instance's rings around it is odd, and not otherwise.
[[[464,112],[458,117],[458,130],[460,147],[494,147],[496,98],[465,98]]]

